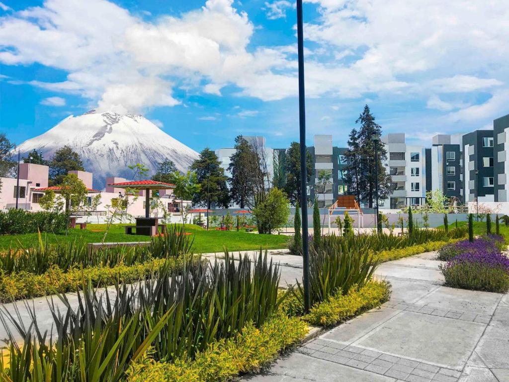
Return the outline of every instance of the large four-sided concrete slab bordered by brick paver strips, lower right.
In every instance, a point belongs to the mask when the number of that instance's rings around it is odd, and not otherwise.
[[[484,329],[485,325],[475,322],[404,312],[358,344],[456,369],[467,362]]]

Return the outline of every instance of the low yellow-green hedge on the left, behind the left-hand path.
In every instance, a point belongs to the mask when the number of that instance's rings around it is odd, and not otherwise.
[[[198,258],[193,258],[198,261]],[[54,294],[54,292],[65,293],[76,291],[82,285],[82,277],[91,280],[94,286],[102,287],[122,283],[134,283],[147,279],[152,272],[160,269],[165,260],[154,259],[142,264],[131,266],[118,265],[116,267],[90,267],[85,269],[70,269],[63,272],[57,266],[50,268],[42,275],[35,275],[29,272],[2,275],[0,273],[0,302],[10,302],[13,299],[34,298]],[[171,260],[170,264],[175,269],[183,266],[183,259]]]

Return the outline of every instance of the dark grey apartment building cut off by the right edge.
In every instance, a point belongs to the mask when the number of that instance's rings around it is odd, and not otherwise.
[[[509,114],[493,121],[495,202],[509,202]]]

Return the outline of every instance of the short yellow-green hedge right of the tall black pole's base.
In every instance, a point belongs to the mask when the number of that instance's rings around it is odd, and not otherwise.
[[[346,295],[338,293],[311,308],[304,319],[315,325],[330,326],[346,321],[366,310],[380,306],[390,297],[389,283],[372,281],[358,291],[352,289]]]

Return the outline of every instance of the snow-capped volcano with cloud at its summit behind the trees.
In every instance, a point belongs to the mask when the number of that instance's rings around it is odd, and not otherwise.
[[[140,115],[120,115],[94,110],[74,117],[69,116],[38,137],[18,146],[20,152],[42,151],[49,159],[56,150],[70,146],[76,151],[83,167],[94,174],[94,188],[102,189],[106,177],[130,179],[127,167],[143,163],[151,174],[158,162],[165,158],[175,162],[177,169],[187,171],[198,153],[166,134]]]

